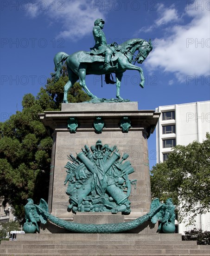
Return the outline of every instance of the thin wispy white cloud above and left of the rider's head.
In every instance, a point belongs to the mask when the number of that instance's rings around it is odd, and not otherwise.
[[[47,3],[47,6],[43,6],[44,2]],[[103,13],[94,8],[94,0],[37,0],[33,3],[32,8],[28,8],[28,15],[31,18],[46,15],[51,21],[58,20],[61,24],[61,32],[57,37],[72,40],[78,40],[90,34],[94,21],[97,18],[104,19]]]

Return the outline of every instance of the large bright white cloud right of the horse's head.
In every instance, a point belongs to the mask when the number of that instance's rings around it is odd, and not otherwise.
[[[210,75],[209,11],[194,8],[185,15],[192,17],[191,22],[173,26],[169,37],[156,39],[157,47],[145,63],[152,70],[175,73],[180,82],[184,82],[187,75]]]

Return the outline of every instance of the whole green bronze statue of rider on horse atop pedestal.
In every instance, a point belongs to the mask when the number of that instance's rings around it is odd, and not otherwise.
[[[132,62],[142,63],[148,54],[152,51],[153,46],[151,40],[136,38],[127,40],[119,46],[115,43],[107,45],[105,34],[102,29],[104,21],[102,19],[95,20],[95,27],[93,28],[93,35],[95,39],[95,46],[91,48],[90,52],[79,51],[77,53],[68,55],[64,52],[59,52],[54,57],[55,63],[55,81],[59,79],[62,70],[63,61],[67,63],[67,70],[69,81],[64,86],[64,103],[67,101],[67,93],[74,83],[79,80],[79,84],[85,92],[96,102],[106,102],[106,99],[100,101],[94,94],[92,94],[86,86],[85,76],[87,74],[105,74],[107,83],[114,83],[109,79],[109,74],[116,75],[116,98],[120,102],[124,101],[120,96],[120,87],[122,75],[126,70],[137,70],[140,73],[141,82],[140,87],[144,88],[144,74],[141,67],[135,66]],[[138,51],[138,54],[134,53]],[[136,56],[133,59],[133,56]],[[91,101],[94,102],[94,101]]]

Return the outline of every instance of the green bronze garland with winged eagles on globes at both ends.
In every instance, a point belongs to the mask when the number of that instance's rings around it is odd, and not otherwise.
[[[48,205],[44,199],[40,200],[39,205],[33,204],[32,199],[29,199],[30,203],[26,204],[25,207],[25,218],[26,224],[34,226],[35,229],[38,227],[37,222],[40,221],[42,223],[46,223],[48,219],[52,223],[56,224],[59,227],[64,229],[68,229],[74,232],[81,233],[118,233],[124,232],[130,229],[134,229],[144,222],[151,220],[151,222],[156,223],[157,221],[161,221],[161,226],[168,224],[168,228],[162,229],[165,233],[173,233],[175,229],[173,229],[175,214],[174,214],[174,205],[172,204],[171,198],[166,200],[166,204],[160,204],[159,199],[155,198],[151,203],[150,212],[137,218],[134,221],[130,222],[121,222],[121,223],[105,223],[105,224],[82,224],[82,223],[74,223],[61,220],[56,216],[51,215],[48,212]],[[24,224],[25,226],[25,224]],[[31,232],[33,233],[35,229]],[[25,229],[26,230],[26,229]],[[32,230],[32,229],[31,229]],[[30,232],[27,232],[30,233]]]

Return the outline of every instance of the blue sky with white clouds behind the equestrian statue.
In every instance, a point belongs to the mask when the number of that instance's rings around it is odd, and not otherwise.
[[[26,93],[36,95],[54,70],[57,52],[89,51],[92,28],[105,20],[108,43],[152,39],[153,51],[137,71],[126,71],[121,97],[139,109],[210,100],[210,1],[197,0],[1,0],[0,115],[5,121]],[[115,85],[88,76],[98,97],[114,98]],[[150,166],[155,164],[155,133],[148,140]]]

